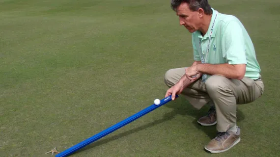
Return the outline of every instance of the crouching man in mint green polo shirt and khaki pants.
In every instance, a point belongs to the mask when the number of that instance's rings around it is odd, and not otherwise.
[[[197,109],[209,104],[208,114],[197,122],[217,123],[218,134],[204,148],[225,152],[240,141],[236,105],[255,101],[264,90],[252,40],[236,17],[219,13],[207,0],[171,0],[171,7],[192,33],[195,61],[168,70],[166,97],[183,94]]]

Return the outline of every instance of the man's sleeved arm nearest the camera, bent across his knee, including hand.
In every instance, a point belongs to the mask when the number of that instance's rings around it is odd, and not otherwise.
[[[221,75],[226,78],[242,79],[246,73],[246,48],[241,24],[235,21],[228,22],[223,30],[222,47],[227,63],[224,64],[198,64],[188,69],[186,74],[189,79],[196,73]]]

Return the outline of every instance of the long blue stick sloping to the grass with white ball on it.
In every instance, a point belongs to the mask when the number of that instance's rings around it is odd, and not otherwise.
[[[176,98],[177,97],[178,97],[178,95],[176,95]],[[98,139],[108,135],[109,133],[120,129],[121,127],[129,124],[130,122],[135,121],[136,119],[142,117],[143,115],[153,111],[154,109],[156,109],[156,108],[158,108],[158,107],[160,107],[162,105],[165,105],[166,103],[168,103],[170,101],[171,101],[171,96],[168,96],[168,97],[166,97],[166,98],[161,100],[160,105],[155,105],[155,104],[150,105],[149,107],[141,110],[140,112],[138,112],[138,113],[136,113],[136,114],[134,114],[134,115],[132,115],[132,116],[130,116],[130,117],[120,121],[120,122],[118,122],[117,124],[113,125],[112,127],[108,128],[108,129],[106,129],[104,131],[101,131],[101,132],[95,134],[94,136],[89,137],[88,139],[86,139],[86,140],[84,140],[84,141],[82,141],[82,142],[80,142],[80,143],[78,143],[78,144],[68,148],[67,150],[65,150],[65,151],[63,151],[63,152],[61,152],[59,154],[57,154],[56,157],[67,157],[67,156],[71,155],[72,153],[74,153],[74,152],[84,148],[85,146],[89,145],[90,143],[95,142]]]

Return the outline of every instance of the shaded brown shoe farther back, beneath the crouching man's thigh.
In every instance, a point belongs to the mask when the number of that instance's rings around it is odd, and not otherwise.
[[[197,123],[202,126],[214,126],[217,124],[216,121],[216,109],[215,106],[211,106],[206,116],[203,116],[197,120]]]

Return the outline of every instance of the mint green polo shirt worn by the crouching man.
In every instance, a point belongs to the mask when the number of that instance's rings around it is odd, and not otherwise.
[[[205,58],[211,28],[217,15],[205,62],[209,64],[246,64],[245,77],[258,79],[261,70],[247,30],[236,17],[221,14],[213,8],[212,10],[213,15],[207,33],[202,36],[197,30],[192,34],[195,61],[201,60],[201,52]],[[207,78],[209,77],[208,75]]]

